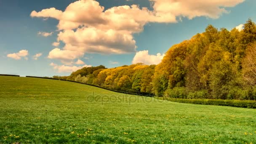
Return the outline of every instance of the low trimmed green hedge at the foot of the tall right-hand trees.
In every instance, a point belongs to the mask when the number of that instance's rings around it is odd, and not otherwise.
[[[231,106],[231,107],[245,107],[256,108],[256,101],[249,100],[224,100],[224,99],[174,99],[166,97],[156,97],[156,99],[162,99],[173,102],[188,103],[188,104],[204,104],[204,105],[217,105],[217,106]]]

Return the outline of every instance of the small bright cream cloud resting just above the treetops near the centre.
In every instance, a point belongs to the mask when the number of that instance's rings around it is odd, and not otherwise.
[[[135,54],[132,64],[144,63],[144,64],[159,64],[165,54],[157,53],[157,55],[149,55],[149,51],[139,51]]]

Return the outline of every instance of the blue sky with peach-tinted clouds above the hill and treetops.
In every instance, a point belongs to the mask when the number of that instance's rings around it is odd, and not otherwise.
[[[243,29],[256,0],[0,0],[0,74],[158,64],[208,24]]]

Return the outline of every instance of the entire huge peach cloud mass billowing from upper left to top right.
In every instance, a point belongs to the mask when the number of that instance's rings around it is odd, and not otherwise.
[[[133,34],[143,31],[149,22],[174,23],[176,18],[206,16],[216,19],[225,9],[244,0],[149,0],[152,10],[139,5],[121,5],[105,9],[96,0],[78,0],[65,11],[47,8],[30,16],[59,20],[58,42],[50,59],[77,59],[84,53],[131,53],[136,51]],[[55,46],[55,44],[54,44]],[[56,46],[57,43],[56,43]],[[71,53],[71,54],[70,54]]]

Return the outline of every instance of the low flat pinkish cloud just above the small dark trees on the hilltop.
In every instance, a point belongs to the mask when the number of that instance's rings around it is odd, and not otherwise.
[[[83,65],[81,67],[77,67],[77,66],[66,66],[66,65],[57,65],[54,63],[51,63],[50,66],[53,67],[53,69],[55,69],[57,72],[61,73],[61,72],[75,72],[78,69],[82,69],[83,67],[91,67],[91,65]]]

